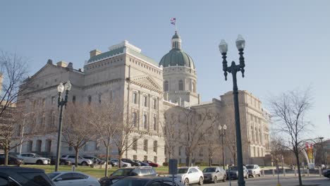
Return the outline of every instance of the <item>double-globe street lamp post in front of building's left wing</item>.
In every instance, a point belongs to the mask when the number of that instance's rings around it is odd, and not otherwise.
[[[63,99],[62,93],[66,90],[66,98]],[[60,109],[60,116],[59,116],[59,131],[57,134],[57,149],[56,149],[56,162],[55,162],[55,172],[59,171],[59,159],[61,154],[61,137],[62,137],[62,119],[63,119],[63,106],[66,106],[68,102],[68,92],[71,90],[71,83],[70,81],[66,82],[63,86],[63,83],[60,82],[59,86],[57,87],[57,91],[59,92],[59,100],[57,101],[58,107]]]

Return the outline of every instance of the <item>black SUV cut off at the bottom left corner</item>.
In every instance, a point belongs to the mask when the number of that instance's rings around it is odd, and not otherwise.
[[[18,166],[0,166],[0,185],[55,186],[44,170]]]

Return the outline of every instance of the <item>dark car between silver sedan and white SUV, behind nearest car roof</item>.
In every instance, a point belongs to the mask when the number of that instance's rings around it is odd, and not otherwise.
[[[109,186],[128,176],[145,176],[145,175],[157,175],[156,171],[152,167],[130,167],[130,168],[119,168],[114,171],[109,177],[99,179],[102,186]]]

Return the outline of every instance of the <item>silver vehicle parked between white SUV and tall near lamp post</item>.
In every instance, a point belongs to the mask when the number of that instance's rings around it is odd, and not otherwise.
[[[204,182],[216,183],[218,180],[222,180],[223,182],[226,182],[227,179],[226,171],[224,171],[224,168],[221,168],[219,166],[204,168],[203,175],[204,175]]]

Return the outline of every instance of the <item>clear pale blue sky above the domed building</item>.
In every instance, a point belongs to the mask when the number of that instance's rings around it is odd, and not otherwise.
[[[183,50],[197,68],[202,101],[232,89],[224,81],[218,44],[246,40],[240,89],[263,102],[271,94],[312,87],[311,136],[330,137],[330,1],[1,1],[0,50],[30,59],[31,75],[51,58],[82,68],[89,51],[124,39],[160,61],[171,48],[177,18]],[[267,108],[267,106],[266,106]]]

